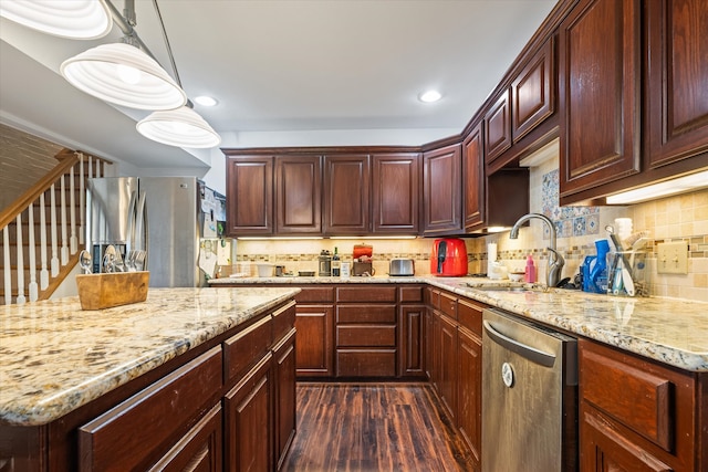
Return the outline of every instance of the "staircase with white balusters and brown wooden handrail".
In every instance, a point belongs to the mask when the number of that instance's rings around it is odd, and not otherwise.
[[[64,149],[60,164],[0,212],[0,303],[46,300],[84,244],[85,186],[111,162]]]

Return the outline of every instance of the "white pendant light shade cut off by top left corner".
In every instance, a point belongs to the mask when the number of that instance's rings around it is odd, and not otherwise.
[[[113,27],[103,0],[2,0],[0,15],[43,33],[77,40],[103,38]]]

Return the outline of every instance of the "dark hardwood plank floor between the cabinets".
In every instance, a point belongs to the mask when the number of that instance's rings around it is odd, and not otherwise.
[[[426,384],[298,384],[283,471],[468,471],[471,458]]]

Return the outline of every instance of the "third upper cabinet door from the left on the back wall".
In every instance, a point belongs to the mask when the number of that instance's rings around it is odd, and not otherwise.
[[[325,156],[324,232],[369,231],[369,164],[367,155]]]

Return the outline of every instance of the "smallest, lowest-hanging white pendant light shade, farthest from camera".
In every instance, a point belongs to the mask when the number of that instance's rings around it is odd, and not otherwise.
[[[137,124],[139,134],[154,141],[188,148],[215,147],[221,137],[194,109],[183,106],[155,112]]]

